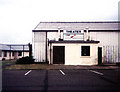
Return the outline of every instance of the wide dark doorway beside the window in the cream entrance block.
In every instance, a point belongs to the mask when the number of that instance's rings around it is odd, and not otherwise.
[[[53,46],[53,64],[65,63],[65,46]]]

